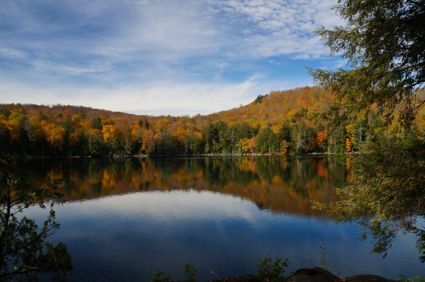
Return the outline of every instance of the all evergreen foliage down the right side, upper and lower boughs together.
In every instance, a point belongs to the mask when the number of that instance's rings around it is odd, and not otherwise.
[[[425,144],[415,126],[424,120],[419,112],[425,99],[419,92],[425,83],[425,1],[339,4],[335,10],[349,26],[316,33],[331,55],[341,54],[351,68],[309,69],[335,98],[317,116],[338,125],[361,115],[369,122],[374,113],[384,117],[387,134],[364,140],[360,154],[348,158],[357,176],[339,190],[346,200],[315,207],[329,210],[340,222],[357,221],[363,226],[361,238],[371,235],[373,252],[384,256],[397,235],[412,232],[425,262]]]

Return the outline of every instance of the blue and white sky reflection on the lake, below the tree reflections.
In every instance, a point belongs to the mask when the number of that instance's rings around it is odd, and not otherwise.
[[[298,160],[296,165],[302,167],[305,161]],[[172,162],[169,167],[171,165]],[[329,175],[335,173],[329,165],[328,170]],[[317,177],[313,172],[304,175]],[[38,175],[41,179],[43,174]],[[262,180],[261,177],[255,179]],[[310,180],[304,179],[304,182],[311,183]],[[276,187],[278,185],[276,183]],[[250,184],[247,186],[248,190],[254,189]],[[332,183],[327,186],[334,189]],[[256,187],[260,189],[261,185],[257,183]],[[289,258],[289,272],[311,266],[306,253],[315,257],[319,265],[319,246],[323,245],[327,248],[330,270],[340,271],[343,277],[371,273],[397,279],[399,274],[425,273],[413,236],[399,238],[382,260],[380,255],[368,254],[372,249],[369,240],[357,240],[359,227],[330,225],[331,220],[324,214],[303,213],[302,209],[277,209],[276,212],[275,204],[269,203],[263,205],[272,208],[259,208],[250,197],[214,190],[212,186],[177,190],[148,188],[91,199],[74,198],[63,207],[55,207],[61,229],[52,241],[67,244],[74,261],[72,281],[145,282],[156,269],[170,273],[172,279],[182,279],[183,263],[194,264],[200,281],[214,279],[211,271],[220,277],[254,273],[255,261],[265,257],[272,247],[272,256]],[[304,193],[300,197],[308,199],[319,192],[318,189],[316,193]],[[297,200],[296,196],[292,197]],[[36,220],[46,215],[46,211],[37,208],[32,208],[30,213]]]

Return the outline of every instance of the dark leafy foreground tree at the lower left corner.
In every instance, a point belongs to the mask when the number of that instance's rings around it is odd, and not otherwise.
[[[52,281],[67,281],[72,263],[65,244],[45,241],[59,228],[53,203],[41,227],[22,216],[28,207],[44,209],[45,201],[62,198],[56,192],[61,181],[48,178],[43,186],[33,186],[21,161],[12,155],[0,157],[0,281],[40,281],[49,276]]]

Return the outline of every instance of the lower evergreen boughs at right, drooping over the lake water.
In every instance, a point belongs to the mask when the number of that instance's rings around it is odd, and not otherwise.
[[[424,137],[413,128],[403,138],[364,144],[361,154],[347,159],[357,172],[356,182],[337,189],[346,200],[313,207],[329,210],[340,222],[357,221],[363,227],[361,238],[372,235],[373,252],[384,256],[398,234],[412,232],[424,262]]]

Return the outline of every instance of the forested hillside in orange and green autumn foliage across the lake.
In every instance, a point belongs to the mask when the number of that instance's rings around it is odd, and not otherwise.
[[[422,93],[423,94],[423,93]],[[252,103],[208,115],[151,116],[83,106],[1,104],[0,145],[31,156],[193,153],[307,153],[357,150],[388,134],[376,114],[326,127],[309,113],[332,94],[303,87],[259,95]],[[419,128],[424,114],[418,115]]]

